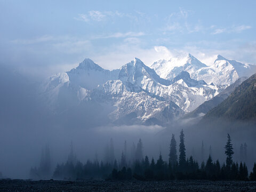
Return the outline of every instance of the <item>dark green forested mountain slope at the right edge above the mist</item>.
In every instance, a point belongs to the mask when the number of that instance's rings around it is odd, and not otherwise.
[[[221,117],[227,119],[256,119],[256,74],[236,87],[227,99],[210,110],[203,119]]]

